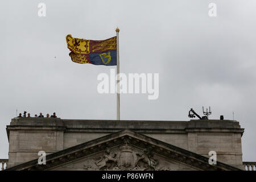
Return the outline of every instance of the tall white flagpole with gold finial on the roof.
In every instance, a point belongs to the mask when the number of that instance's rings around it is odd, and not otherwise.
[[[117,32],[117,120],[120,120],[120,86],[119,86],[119,28],[117,27],[115,29],[115,32]]]

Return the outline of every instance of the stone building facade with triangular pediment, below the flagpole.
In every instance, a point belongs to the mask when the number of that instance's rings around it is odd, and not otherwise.
[[[229,120],[14,118],[6,170],[240,170],[244,129]],[[46,164],[38,164],[38,152]],[[217,164],[209,164],[209,151]]]

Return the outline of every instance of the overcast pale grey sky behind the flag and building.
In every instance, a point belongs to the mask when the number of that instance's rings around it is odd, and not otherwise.
[[[46,17],[38,4],[46,3]],[[209,3],[217,17],[209,17]],[[159,73],[159,98],[121,94],[121,119],[240,122],[243,161],[256,161],[256,1],[1,1],[0,158],[6,125],[24,110],[63,119],[115,119],[115,94],[98,94],[110,68],[76,64],[65,36],[103,40],[120,28],[120,71]],[[56,58],[55,58],[56,56]]]

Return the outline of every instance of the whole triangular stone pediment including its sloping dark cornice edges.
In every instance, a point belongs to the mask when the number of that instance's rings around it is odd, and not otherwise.
[[[67,148],[7,170],[240,170],[130,130]]]

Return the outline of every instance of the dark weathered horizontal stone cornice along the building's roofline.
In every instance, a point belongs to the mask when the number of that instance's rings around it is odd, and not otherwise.
[[[241,133],[239,122],[230,120],[191,120],[191,121],[129,121],[91,120],[60,118],[14,118],[7,126],[10,130],[63,130],[64,132],[115,133],[120,130],[133,130],[137,133],[184,134],[193,132]]]

